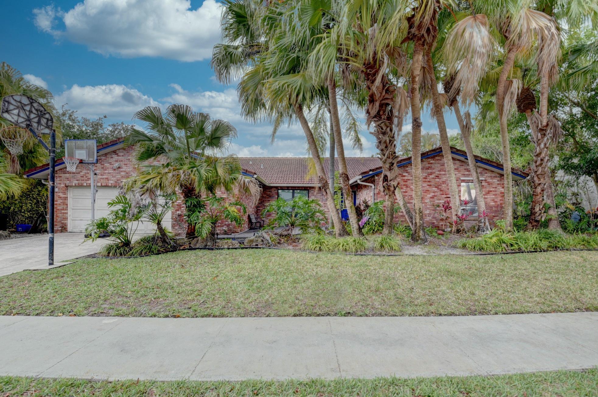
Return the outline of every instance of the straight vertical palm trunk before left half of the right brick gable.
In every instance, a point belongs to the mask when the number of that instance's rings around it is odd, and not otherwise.
[[[423,231],[422,205],[422,120],[420,120],[419,77],[422,70],[423,42],[417,38],[411,62],[411,169],[413,170],[413,226],[411,240],[428,242]]]

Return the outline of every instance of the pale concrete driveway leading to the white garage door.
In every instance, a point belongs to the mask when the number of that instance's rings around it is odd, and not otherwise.
[[[54,235],[54,263],[95,254],[108,241],[83,243],[83,233]],[[48,235],[42,234],[0,241],[0,276],[48,264]]]

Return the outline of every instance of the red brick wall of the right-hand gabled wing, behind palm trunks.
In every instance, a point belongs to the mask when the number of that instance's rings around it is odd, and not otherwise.
[[[460,187],[461,182],[472,182],[471,179],[463,180],[461,178],[471,178],[469,166],[466,161],[456,160],[453,158],[455,176],[457,178],[457,187]],[[413,190],[411,189],[411,164],[402,166],[400,186],[405,200],[410,204],[413,210]],[[482,187],[484,190],[484,201],[486,201],[486,211],[490,213],[489,221],[493,225],[496,219],[502,218],[503,207],[503,177],[497,172],[478,167],[480,178],[482,179]],[[424,158],[422,160],[422,197],[423,197],[423,217],[426,226],[440,227],[438,222],[438,215],[435,213],[435,205],[442,204],[444,200],[450,198],[449,186],[447,184],[446,171],[444,169],[444,159],[442,155],[435,155],[433,157]],[[376,182],[373,182],[375,179]],[[374,183],[376,185],[376,200],[384,200],[386,197],[381,188],[382,174],[378,174],[368,178],[364,182]],[[371,201],[371,187],[358,185],[357,200],[364,198]],[[395,198],[396,202],[396,198]],[[407,222],[402,212],[395,215],[395,221]],[[467,225],[473,224],[474,221],[466,222]]]

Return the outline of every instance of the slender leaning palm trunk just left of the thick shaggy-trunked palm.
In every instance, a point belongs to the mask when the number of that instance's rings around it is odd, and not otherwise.
[[[332,116],[332,127],[334,130],[334,143],[337,149],[339,178],[341,187],[343,188],[344,205],[347,207],[347,212],[349,213],[349,222],[351,224],[353,236],[363,236],[364,234],[359,227],[359,219],[357,219],[355,205],[353,204],[353,194],[351,192],[351,185],[349,185],[347,162],[344,159],[343,135],[340,128],[340,117],[338,117],[336,83],[334,82],[334,75],[328,78],[328,99],[330,114]]]

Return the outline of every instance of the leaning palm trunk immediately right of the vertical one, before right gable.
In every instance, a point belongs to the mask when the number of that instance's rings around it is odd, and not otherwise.
[[[457,215],[459,215],[461,201],[459,199],[459,190],[457,189],[457,177],[454,174],[453,156],[450,151],[449,135],[447,134],[447,126],[444,123],[443,105],[440,103],[440,94],[438,94],[438,84],[434,74],[434,63],[432,63],[432,48],[426,47],[426,68],[431,78],[432,89],[432,103],[434,104],[434,114],[436,123],[438,124],[438,133],[440,134],[440,145],[443,148],[444,169],[446,170],[447,179],[449,179],[449,195],[451,201],[451,216],[453,225],[457,225]],[[454,230],[453,226],[453,230]]]

